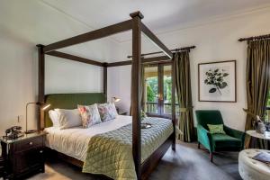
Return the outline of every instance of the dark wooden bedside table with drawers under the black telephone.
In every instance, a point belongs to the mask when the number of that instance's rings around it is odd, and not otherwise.
[[[44,173],[44,143],[46,132],[25,134],[18,139],[1,138],[2,157],[8,179],[33,173]]]

